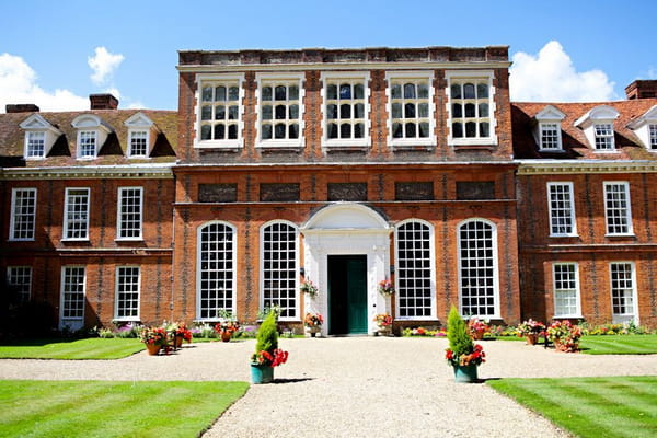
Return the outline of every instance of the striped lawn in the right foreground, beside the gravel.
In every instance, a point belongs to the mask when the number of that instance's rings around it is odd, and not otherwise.
[[[579,437],[657,436],[657,377],[503,379],[488,385]]]

